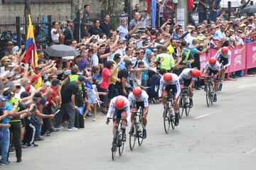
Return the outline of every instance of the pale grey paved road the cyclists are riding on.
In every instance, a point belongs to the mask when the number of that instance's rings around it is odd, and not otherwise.
[[[191,114],[169,135],[161,105],[149,108],[148,137],[134,152],[112,162],[112,126],[86,120],[86,128],[45,137],[23,152],[23,162],[1,169],[256,169],[256,77],[225,81],[218,102],[207,108],[203,90],[196,91]]]

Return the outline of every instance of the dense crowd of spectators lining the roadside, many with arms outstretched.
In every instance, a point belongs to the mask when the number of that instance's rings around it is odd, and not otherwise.
[[[54,21],[50,32],[51,45],[70,45],[78,56],[50,57],[38,50],[38,66],[33,67],[23,62],[26,52],[7,42],[0,74],[0,164],[10,164],[11,152],[21,162],[23,149],[38,147],[35,142],[52,132],[86,128],[85,121],[97,120],[97,111],[107,114],[114,96],[128,96],[136,86],[158,103],[164,73],[201,69],[200,55],[211,48],[241,45],[244,50],[245,42],[255,41],[255,14],[225,18],[220,13],[215,22],[203,18],[186,28],[176,18],[163,16],[157,30],[144,25],[147,16],[138,10],[130,23],[122,18],[120,26],[110,30],[110,15],[90,21],[90,6],[84,7],[80,42],[73,39],[72,20]],[[199,79],[195,88],[201,89]]]

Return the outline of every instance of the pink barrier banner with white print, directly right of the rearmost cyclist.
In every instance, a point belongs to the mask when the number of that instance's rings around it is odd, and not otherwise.
[[[229,72],[235,72],[238,70],[245,69],[245,57],[246,57],[246,50],[241,50],[242,47],[238,46],[235,49],[230,47],[231,51],[231,64],[229,66]]]

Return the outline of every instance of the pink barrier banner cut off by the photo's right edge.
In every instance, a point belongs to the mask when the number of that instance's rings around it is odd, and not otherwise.
[[[246,69],[256,67],[256,43],[247,43]]]

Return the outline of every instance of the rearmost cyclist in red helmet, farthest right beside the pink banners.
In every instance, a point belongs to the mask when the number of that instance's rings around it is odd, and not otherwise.
[[[223,65],[221,69],[221,80],[224,80],[225,70],[231,64],[231,51],[228,50],[228,47],[222,47],[220,50],[218,50],[214,57],[218,60],[218,62],[220,62]]]

